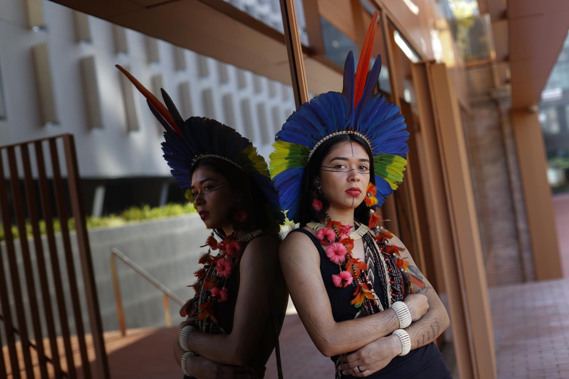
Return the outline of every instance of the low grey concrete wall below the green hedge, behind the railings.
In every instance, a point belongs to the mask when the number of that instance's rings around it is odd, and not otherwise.
[[[201,222],[197,214],[189,214],[174,218],[152,220],[149,222],[132,223],[127,226],[104,228],[89,231],[89,240],[93,259],[93,269],[97,282],[97,293],[101,307],[101,317],[105,330],[117,330],[118,321],[115,305],[114,290],[112,277],[110,274],[110,249],[116,247],[127,257],[140,265],[143,269],[151,274],[156,280],[161,282],[167,288],[171,289],[176,295],[182,299],[188,299],[193,296],[193,289],[187,288],[187,285],[193,284],[195,277],[193,272],[198,268],[197,259],[203,250],[200,245],[203,244],[208,231]],[[81,276],[79,252],[77,250],[75,233],[71,235],[73,244],[73,259],[75,260],[75,269],[79,281],[79,293],[81,302],[83,303],[83,320],[86,330],[89,330],[88,312],[84,302],[83,277]],[[61,244],[61,236],[57,238],[57,249],[59,253],[59,265],[62,272],[62,281],[65,289],[65,298],[67,301],[67,314],[72,332],[75,331],[75,322],[73,321],[73,313],[71,303],[69,301],[69,281],[67,278],[67,270],[65,269],[63,245]],[[33,241],[30,240],[30,251],[32,257],[32,265],[36,271],[35,251]],[[47,240],[43,238],[44,256],[48,268],[48,281],[50,282],[51,303],[54,309],[57,308],[55,291],[53,291],[53,277],[49,255],[47,250]],[[30,323],[30,315],[40,316],[43,320],[43,303],[41,302],[39,276],[34,274],[36,293],[40,297],[41,311],[32,311],[27,302],[27,289],[25,286],[25,277],[23,272],[22,255],[19,249],[20,243],[17,241],[17,257],[19,266],[19,278],[22,285],[24,307],[27,310],[28,332],[33,335]],[[0,243],[0,251],[5,269],[8,269],[6,256],[6,245],[3,241]],[[145,278],[135,273],[133,269],[117,260],[117,271],[121,282],[121,294],[123,307],[125,310],[125,319],[127,328],[143,327],[143,326],[163,326],[164,311],[162,307],[162,291],[156,289]],[[3,274],[3,273],[0,273]],[[6,273],[7,274],[7,273]],[[9,276],[6,277],[10,281]],[[9,284],[10,304],[14,319],[14,301],[13,291]],[[172,321],[174,323],[182,319],[178,315],[179,306],[171,301],[170,311]],[[2,311],[3,312],[3,311]],[[56,313],[56,328],[60,331],[59,318]],[[0,323],[3,325],[3,323]],[[0,327],[2,336],[4,334],[3,326]],[[43,334],[47,335],[45,326],[43,326]],[[5,341],[4,338],[2,340]]]

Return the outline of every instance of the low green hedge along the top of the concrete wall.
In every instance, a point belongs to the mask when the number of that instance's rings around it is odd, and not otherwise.
[[[129,222],[179,216],[186,213],[192,213],[195,211],[196,210],[189,202],[185,204],[170,203],[162,207],[154,207],[154,208],[151,208],[148,205],[143,205],[141,207],[133,206],[122,211],[119,214],[109,214],[101,217],[88,216],[86,219],[86,223],[88,229],[108,228],[108,227],[125,225],[126,223]],[[69,230],[75,230],[75,219],[70,218],[68,226]],[[39,221],[39,229],[42,235],[46,234],[46,222],[44,220]],[[56,233],[61,231],[61,224],[59,222],[59,219],[57,218],[53,219],[53,230],[55,230]],[[33,236],[30,220],[26,220],[26,234],[28,238],[31,238]],[[14,236],[14,239],[20,238],[18,227],[16,225],[12,225],[12,235]],[[2,223],[0,223],[0,241],[3,240],[4,240],[4,227]]]

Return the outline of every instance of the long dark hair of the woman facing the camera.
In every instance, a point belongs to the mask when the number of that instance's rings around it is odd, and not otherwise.
[[[302,193],[300,194],[300,227],[303,227],[308,222],[314,220],[323,220],[321,219],[321,213],[328,209],[329,203],[325,201],[323,196],[318,196],[318,190],[314,187],[314,180],[315,177],[320,174],[322,162],[331,149],[337,144],[347,141],[353,141],[360,144],[368,153],[370,165],[369,181],[376,184],[376,176],[373,169],[372,149],[364,139],[355,134],[340,134],[325,140],[312,154],[310,161],[308,161],[308,164],[306,165],[304,179],[302,181]],[[315,198],[318,198],[323,203],[324,209],[321,212],[316,212],[314,207],[312,207],[312,201],[314,201]],[[362,201],[361,204],[354,209],[354,219],[366,224],[368,222],[368,216],[369,208],[365,205],[365,202]]]

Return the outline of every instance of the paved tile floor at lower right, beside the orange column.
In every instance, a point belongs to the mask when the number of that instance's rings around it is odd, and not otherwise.
[[[498,378],[569,378],[569,279],[490,291]]]

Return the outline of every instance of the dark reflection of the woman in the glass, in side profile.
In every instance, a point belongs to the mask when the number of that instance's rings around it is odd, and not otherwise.
[[[232,128],[207,118],[184,122],[164,90],[166,107],[118,68],[166,129],[164,159],[213,230],[201,246],[195,296],[180,310],[187,321],[174,355],[184,378],[263,378],[288,301],[277,256],[284,215],[267,164]]]

